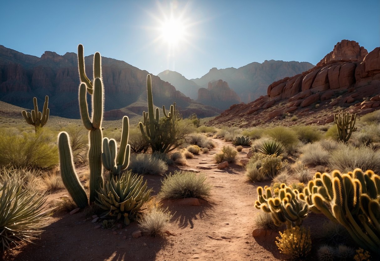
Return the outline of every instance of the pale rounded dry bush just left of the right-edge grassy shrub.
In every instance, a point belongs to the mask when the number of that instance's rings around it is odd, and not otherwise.
[[[300,159],[305,165],[327,165],[329,162],[329,153],[318,143],[306,144],[300,150]]]

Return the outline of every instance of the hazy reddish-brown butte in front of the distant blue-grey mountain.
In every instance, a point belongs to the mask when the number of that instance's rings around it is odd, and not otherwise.
[[[197,101],[225,110],[232,104],[240,103],[240,97],[228,86],[226,81],[218,80],[209,82],[207,89],[200,88]]]

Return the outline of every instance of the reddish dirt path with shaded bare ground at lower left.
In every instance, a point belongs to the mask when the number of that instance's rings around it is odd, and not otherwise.
[[[256,187],[268,184],[248,183],[244,169],[230,164],[219,170],[214,154],[222,146],[231,145],[213,139],[216,148],[207,154],[188,159],[182,170],[203,172],[212,184],[211,196],[201,206],[170,206],[175,212],[169,231],[175,236],[153,238],[132,237],[137,222],[116,231],[98,228],[83,213],[53,216],[51,224],[41,235],[37,245],[21,245],[14,249],[15,257],[9,260],[281,260],[274,237],[256,241],[252,237]],[[236,162],[246,159],[249,147],[237,153]],[[148,186],[155,193],[160,189],[161,178],[145,175]],[[66,192],[52,194],[48,200]]]

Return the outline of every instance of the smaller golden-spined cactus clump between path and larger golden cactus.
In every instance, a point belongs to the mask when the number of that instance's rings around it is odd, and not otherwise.
[[[257,188],[258,200],[255,207],[270,213],[274,224],[281,226],[286,224],[287,228],[301,226],[307,216],[308,205],[297,198],[298,190],[282,183],[279,196],[272,195],[271,187]]]

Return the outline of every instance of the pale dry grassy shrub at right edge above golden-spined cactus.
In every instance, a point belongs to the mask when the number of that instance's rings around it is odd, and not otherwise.
[[[332,151],[329,157],[331,169],[346,172],[355,168],[364,171],[373,170],[380,172],[380,152],[368,147],[355,148],[351,145],[341,145],[339,149]]]

